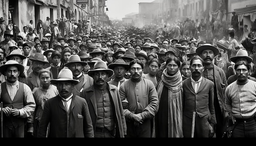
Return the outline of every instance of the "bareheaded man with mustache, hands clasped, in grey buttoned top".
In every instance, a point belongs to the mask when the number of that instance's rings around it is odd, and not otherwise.
[[[126,117],[126,137],[155,137],[155,114],[159,100],[153,82],[142,78],[143,63],[132,60],[129,64],[131,78],[120,85],[119,93]]]

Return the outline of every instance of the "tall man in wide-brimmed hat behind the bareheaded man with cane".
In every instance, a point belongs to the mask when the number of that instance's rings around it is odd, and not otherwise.
[[[227,110],[225,108],[225,88],[227,79],[224,71],[213,64],[213,58],[218,55],[219,50],[211,44],[203,44],[195,50],[196,54],[204,60],[203,77],[214,83],[214,109],[217,124],[214,126],[216,137],[222,137],[227,126]]]

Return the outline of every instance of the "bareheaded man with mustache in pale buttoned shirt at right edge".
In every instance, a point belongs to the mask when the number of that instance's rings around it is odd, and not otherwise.
[[[247,61],[236,62],[237,80],[225,91],[225,107],[229,113],[230,137],[256,137],[256,82],[247,77],[250,65]]]

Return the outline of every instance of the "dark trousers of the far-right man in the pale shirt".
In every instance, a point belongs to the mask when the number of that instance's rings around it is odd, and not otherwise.
[[[256,137],[256,119],[242,120],[236,119],[236,126],[232,131],[231,137]]]

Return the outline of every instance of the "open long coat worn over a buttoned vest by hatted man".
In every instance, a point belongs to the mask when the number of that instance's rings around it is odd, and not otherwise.
[[[113,109],[114,109],[114,118],[115,118],[115,126],[116,126],[116,137],[124,137],[126,135],[126,121],[124,117],[124,111],[121,104],[121,98],[119,95],[119,91],[117,89],[117,86],[107,84],[107,89],[109,91],[109,97],[110,101],[113,103]],[[85,98],[87,101],[90,116],[92,119],[92,125],[95,131],[96,128],[96,122],[97,122],[97,102],[96,102],[96,96],[95,96],[95,87],[94,84],[88,88],[83,89],[83,91],[80,94],[80,97]]]

